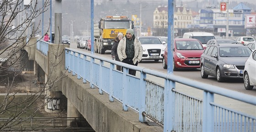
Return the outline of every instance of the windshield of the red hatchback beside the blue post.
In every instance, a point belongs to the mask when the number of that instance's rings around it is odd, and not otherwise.
[[[177,50],[203,50],[203,46],[198,41],[176,41]]]

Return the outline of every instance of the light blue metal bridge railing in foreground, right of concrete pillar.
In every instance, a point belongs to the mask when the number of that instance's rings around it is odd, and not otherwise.
[[[114,65],[122,66],[123,72],[115,70]],[[215,95],[221,95],[255,106],[255,96],[71,48],[65,48],[65,67],[77,79],[90,82],[91,88],[99,88],[100,94],[106,92],[111,102],[115,98],[123,103],[124,111],[130,107],[139,112],[140,122],[145,122],[147,116],[163,126],[164,132],[256,131],[255,115],[235,111],[214,101]],[[139,77],[128,74],[128,69],[139,71]],[[150,80],[150,76],[163,79],[165,85]],[[177,91],[176,83],[203,90],[203,100]]]

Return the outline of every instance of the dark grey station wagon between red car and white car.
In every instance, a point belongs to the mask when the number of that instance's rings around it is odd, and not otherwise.
[[[201,55],[201,77],[208,75],[222,82],[225,78],[243,78],[245,61],[251,49],[236,43],[208,45]]]

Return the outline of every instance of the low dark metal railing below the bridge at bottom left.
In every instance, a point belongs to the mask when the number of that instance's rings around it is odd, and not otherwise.
[[[11,119],[12,120],[12,119]],[[5,129],[35,129],[35,128],[56,128],[56,127],[70,127],[72,122],[86,122],[85,118],[78,117],[33,117],[33,118],[16,118],[10,121],[10,118],[0,118],[0,124],[5,124]]]

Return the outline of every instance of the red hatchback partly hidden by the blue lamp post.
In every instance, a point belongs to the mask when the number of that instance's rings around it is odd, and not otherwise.
[[[204,48],[194,38],[174,38],[173,71],[179,68],[200,68],[200,57]],[[167,47],[163,55],[163,68],[167,69]]]

